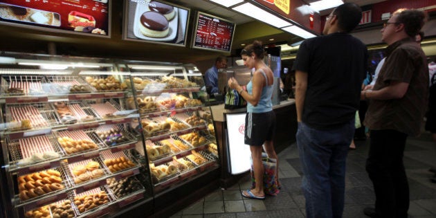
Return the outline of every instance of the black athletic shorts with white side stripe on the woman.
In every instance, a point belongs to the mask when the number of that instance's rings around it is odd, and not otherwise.
[[[262,146],[266,140],[273,140],[275,134],[275,113],[247,113],[245,116],[244,143]]]

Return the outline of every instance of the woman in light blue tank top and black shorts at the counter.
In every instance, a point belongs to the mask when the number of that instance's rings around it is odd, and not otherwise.
[[[228,87],[235,89],[247,104],[245,118],[244,143],[250,145],[251,158],[253,159],[253,169],[256,185],[252,190],[245,190],[242,196],[250,199],[265,199],[264,193],[264,165],[262,163],[262,145],[269,158],[277,160],[273,138],[275,134],[275,113],[273,111],[273,71],[264,63],[264,48],[262,42],[255,41],[253,44],[245,46],[241,52],[244,66],[255,69],[253,77],[248,82],[244,91],[235,78],[228,80]],[[278,182],[278,170],[275,178]],[[280,187],[280,184],[277,183]]]

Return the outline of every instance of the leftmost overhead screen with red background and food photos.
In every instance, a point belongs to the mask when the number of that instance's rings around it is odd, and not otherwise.
[[[0,22],[107,36],[109,0],[0,0]]]

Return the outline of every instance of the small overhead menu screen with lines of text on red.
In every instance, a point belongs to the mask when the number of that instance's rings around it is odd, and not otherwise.
[[[230,52],[235,27],[230,21],[198,12],[192,48]]]

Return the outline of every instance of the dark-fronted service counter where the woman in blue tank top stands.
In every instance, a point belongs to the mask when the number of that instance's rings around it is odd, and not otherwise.
[[[231,125],[239,125],[239,123],[232,123],[228,125],[226,116],[235,114],[245,114],[246,108],[242,109],[224,109],[224,105],[215,105],[210,107],[215,125],[215,131],[217,136],[217,143],[219,147],[219,156],[221,158],[221,188],[228,188],[233,185],[241,176],[244,176],[246,172],[240,174],[230,173],[229,145],[232,144],[233,137],[228,137],[228,127]],[[277,128],[274,138],[275,151],[280,152],[287,146],[296,141],[297,131],[297,116],[296,106],[294,99],[288,99],[280,102],[280,105],[274,105],[273,110],[277,119]],[[238,144],[239,145],[239,144]],[[238,146],[232,145],[232,146]],[[241,145],[246,146],[246,145]],[[247,146],[248,147],[248,146]],[[242,158],[243,159],[243,158]]]

